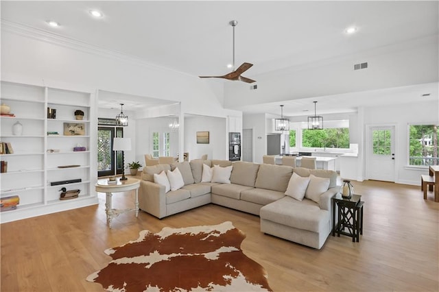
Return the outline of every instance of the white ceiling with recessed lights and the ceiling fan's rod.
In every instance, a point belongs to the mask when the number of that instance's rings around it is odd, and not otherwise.
[[[91,9],[104,17],[93,19]],[[259,74],[437,35],[438,1],[1,1],[1,19],[195,76],[230,71],[228,22],[237,20],[236,66],[254,64],[244,75],[257,80]],[[47,20],[61,26],[49,27]],[[357,33],[345,34],[351,25]],[[413,88],[412,95],[423,90],[435,88]],[[390,93],[405,98],[401,90]],[[318,110],[341,103],[355,110],[373,102],[361,94],[349,101],[332,98],[313,100]],[[291,103],[297,110],[285,104],[288,115],[313,110],[311,100]],[[280,112],[278,104],[241,110]]]

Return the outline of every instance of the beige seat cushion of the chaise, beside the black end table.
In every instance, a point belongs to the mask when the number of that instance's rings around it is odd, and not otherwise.
[[[321,210],[316,202],[309,199],[300,202],[289,196],[263,206],[260,216],[261,219],[312,232],[324,230],[331,220],[331,212]]]

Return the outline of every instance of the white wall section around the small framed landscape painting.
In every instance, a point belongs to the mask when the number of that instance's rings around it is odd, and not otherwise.
[[[209,144],[197,144],[197,132],[209,132]],[[207,154],[209,159],[228,159],[226,118],[185,117],[185,152],[189,160]]]

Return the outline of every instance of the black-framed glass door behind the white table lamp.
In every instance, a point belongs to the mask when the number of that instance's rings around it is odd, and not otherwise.
[[[122,151],[112,151],[113,138],[123,138],[122,127],[97,127],[97,176],[122,173]]]

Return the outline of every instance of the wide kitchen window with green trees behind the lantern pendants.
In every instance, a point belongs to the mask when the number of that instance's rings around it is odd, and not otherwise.
[[[302,147],[349,148],[349,128],[304,129],[302,130]]]

